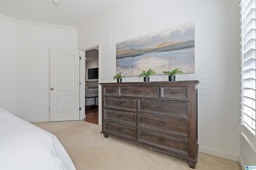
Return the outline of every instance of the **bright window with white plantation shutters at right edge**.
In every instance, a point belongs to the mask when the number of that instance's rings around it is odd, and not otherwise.
[[[255,86],[256,86],[256,53],[255,53],[255,8],[256,0],[241,0],[241,127],[240,133],[256,152],[255,135]]]

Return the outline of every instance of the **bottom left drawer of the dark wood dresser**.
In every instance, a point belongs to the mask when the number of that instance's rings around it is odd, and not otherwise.
[[[119,137],[121,136],[128,139],[136,140],[136,127],[130,127],[118,123],[105,121],[103,130],[105,133],[112,133],[114,135],[118,135]]]

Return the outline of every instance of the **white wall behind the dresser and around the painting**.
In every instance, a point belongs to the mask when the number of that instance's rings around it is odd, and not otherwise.
[[[238,160],[239,0],[138,0],[78,29],[78,49],[100,44],[100,78],[114,82],[116,43],[195,23],[195,73],[176,80],[198,84],[200,151]],[[151,76],[150,81],[168,76]],[[124,82],[143,81],[127,77]]]

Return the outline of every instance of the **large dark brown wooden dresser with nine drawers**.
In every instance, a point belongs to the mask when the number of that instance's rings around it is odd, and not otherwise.
[[[101,133],[188,160],[195,168],[198,83],[100,83]]]

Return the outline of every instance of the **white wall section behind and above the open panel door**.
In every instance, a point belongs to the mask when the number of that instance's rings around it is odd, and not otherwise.
[[[27,121],[48,121],[50,49],[77,49],[77,31],[19,22],[16,39],[17,115]]]

